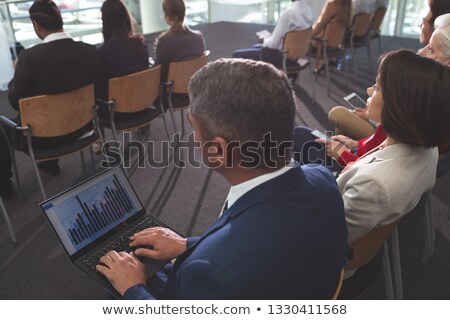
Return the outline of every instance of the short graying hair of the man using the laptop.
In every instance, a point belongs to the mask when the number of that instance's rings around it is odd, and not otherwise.
[[[295,102],[285,75],[265,62],[220,59],[189,84],[190,113],[205,138],[228,141],[292,141]]]

